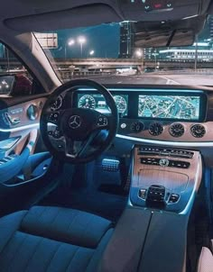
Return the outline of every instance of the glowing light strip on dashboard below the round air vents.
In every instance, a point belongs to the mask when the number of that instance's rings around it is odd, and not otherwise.
[[[121,134],[116,134],[116,138],[130,140],[130,141],[137,141],[143,143],[150,143],[150,144],[158,144],[158,145],[167,145],[171,147],[187,147],[187,148],[199,148],[199,147],[213,147],[213,141],[159,141],[159,140],[149,140],[144,138],[136,138],[131,136],[125,136]]]

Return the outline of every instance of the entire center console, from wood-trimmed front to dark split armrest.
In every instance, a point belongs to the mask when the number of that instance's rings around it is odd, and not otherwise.
[[[98,272],[186,272],[188,221],[201,177],[199,151],[134,146],[129,204]]]

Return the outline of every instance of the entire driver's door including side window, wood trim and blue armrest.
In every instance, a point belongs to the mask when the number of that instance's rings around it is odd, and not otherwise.
[[[29,207],[37,195],[41,197],[52,185],[55,186],[54,177],[59,168],[58,162],[51,160],[49,152],[43,154],[46,148],[40,137],[42,106],[49,94],[12,50],[1,42],[0,49],[2,216]],[[41,150],[42,154],[34,155],[35,151]]]

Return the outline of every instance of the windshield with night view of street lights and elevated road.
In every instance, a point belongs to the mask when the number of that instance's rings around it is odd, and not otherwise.
[[[212,29],[208,17],[191,46],[161,48],[138,46],[132,22],[34,34],[63,82],[213,86]]]

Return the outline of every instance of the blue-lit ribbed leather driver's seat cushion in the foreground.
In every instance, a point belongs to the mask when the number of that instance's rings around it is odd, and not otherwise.
[[[0,219],[0,271],[95,272],[111,222],[77,210],[34,206]]]

